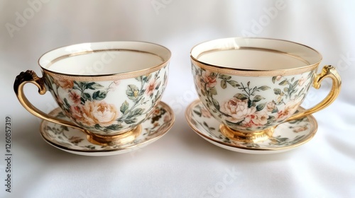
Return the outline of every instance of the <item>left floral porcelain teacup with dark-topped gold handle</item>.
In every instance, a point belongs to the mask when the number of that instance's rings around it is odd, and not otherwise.
[[[148,42],[92,42],[60,47],[38,60],[34,71],[16,77],[14,91],[23,107],[43,120],[82,129],[94,144],[131,141],[160,101],[168,79],[170,51]],[[34,83],[50,91],[70,121],[34,107],[23,93]]]

